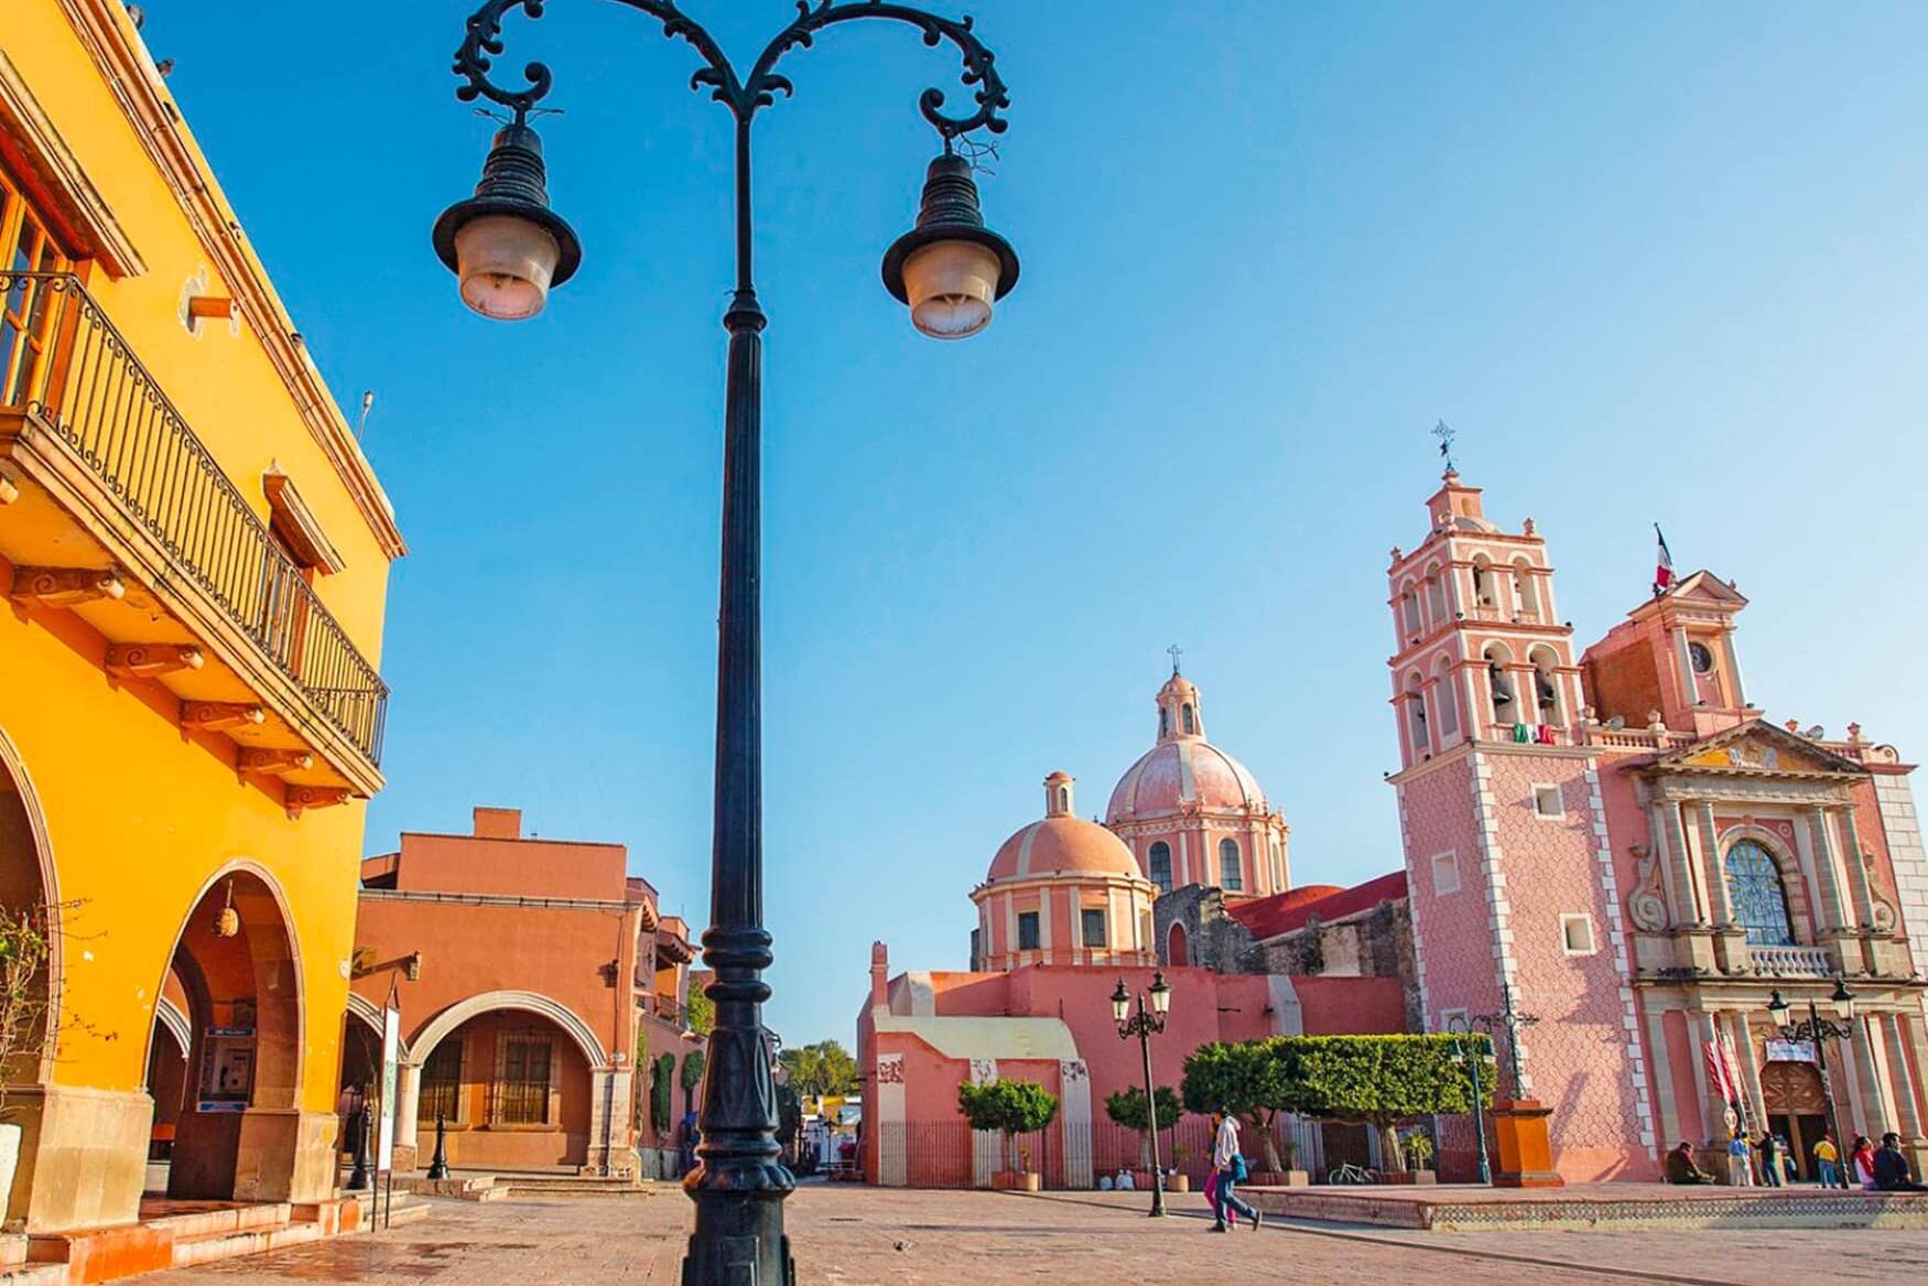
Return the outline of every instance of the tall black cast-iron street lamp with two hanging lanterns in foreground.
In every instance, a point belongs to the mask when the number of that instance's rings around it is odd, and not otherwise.
[[[501,56],[503,17],[522,10],[542,17],[548,0],[488,0],[469,17],[455,52],[463,85],[457,98],[488,98],[513,121],[495,135],[474,197],[451,206],[434,231],[436,253],[461,280],[463,301],[484,316],[521,320],[544,308],[551,287],[567,281],[582,260],[575,229],[549,210],[542,141],[528,114],[549,93],[542,64],[524,67],[526,87],[490,81]],[[696,1226],[683,1261],[684,1286],[789,1284],[794,1280],[783,1234],[783,1199],[794,1180],[777,1147],[777,1099],[763,1045],[763,1001],[769,985],[771,937],[763,929],[763,750],[762,750],[762,332],[763,308],[750,274],[750,123],[779,94],[789,77],[777,62],[808,48],[817,33],[860,17],[885,17],[916,27],[924,42],[945,40],[964,60],[964,85],[976,110],[945,116],[945,94],[924,91],[920,112],[943,137],[931,162],[918,226],[885,255],[883,283],[910,305],[912,324],[941,339],[983,330],[991,307],[1018,281],[1018,256],[983,226],[970,164],[954,141],[976,129],[1001,133],[999,110],[1010,96],[970,19],[949,19],[883,0],[808,0],[763,48],[748,75],[723,56],[715,39],[683,13],[675,0],[617,0],[657,19],[663,35],[686,40],[704,66],[692,89],[729,108],[736,125],[736,289],[723,314],[729,332],[723,426],[723,561],[717,615],[717,746],[715,831],[711,843],[711,925],[704,933],[704,964],[715,972],[706,995],[715,1001],[710,1062],[700,1116],[700,1165],[684,1178],[696,1203]]]

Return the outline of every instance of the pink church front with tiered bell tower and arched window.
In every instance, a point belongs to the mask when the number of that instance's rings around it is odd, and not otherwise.
[[[1780,1039],[1841,978],[1855,1035],[1830,1045],[1843,1128],[1922,1138],[1928,862],[1911,765],[1849,729],[1762,719],[1710,573],[1575,656],[1544,540],[1504,532],[1448,472],[1431,532],[1388,571],[1400,827],[1429,1030],[1539,1022],[1521,1091],[1552,1109],[1569,1180],[1652,1178],[1675,1141],[1727,1138],[1706,1047],[1743,1116],[1803,1170],[1828,1128],[1812,1047]],[[1845,1066],[1843,1066],[1845,1060]],[[1446,1149],[1469,1149],[1463,1126]]]

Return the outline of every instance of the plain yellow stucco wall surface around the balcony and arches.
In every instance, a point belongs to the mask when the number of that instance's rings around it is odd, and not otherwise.
[[[264,470],[280,465],[289,474],[345,559],[345,569],[318,576],[314,590],[355,646],[378,661],[389,553],[399,551],[391,526],[384,532],[366,513],[366,497],[380,499],[380,492],[372,476],[359,476],[364,465],[353,443],[349,472],[330,459],[314,409],[305,416],[305,386],[276,368],[251,326],[231,334],[226,322],[202,324],[199,335],[183,326],[191,278],[206,274],[206,293],[237,293],[237,283],[220,280],[204,237],[239,245],[245,237],[191,214],[143,145],[123,106],[129,96],[108,83],[83,42],[77,13],[112,23],[118,40],[139,48],[120,0],[0,4],[0,52],[145,260],[145,272],[123,280],[94,264],[77,272],[264,521]],[[187,156],[204,166],[191,141]],[[212,175],[204,177],[212,187]],[[218,191],[214,201],[226,214],[222,224],[231,220]],[[253,253],[235,262],[251,264]],[[272,299],[262,285],[258,297]],[[280,305],[264,316],[287,324]],[[322,418],[341,424],[334,405]],[[386,511],[386,499],[380,505]],[[0,592],[10,582],[12,567],[0,561]],[[104,638],[67,613],[0,609],[0,738],[12,748],[0,758],[17,758],[25,771],[54,868],[56,887],[46,893],[69,904],[64,1022],[48,1082],[120,1095],[145,1087],[154,1001],[183,920],[224,868],[247,862],[280,891],[299,960],[297,1107],[332,1112],[366,806],[289,817],[270,790],[237,777],[229,742],[183,735],[160,688],[112,683],[104,648]]]

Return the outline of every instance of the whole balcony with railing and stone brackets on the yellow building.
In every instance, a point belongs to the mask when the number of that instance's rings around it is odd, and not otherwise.
[[[289,812],[382,787],[388,686],[79,278],[0,274],[0,557]]]

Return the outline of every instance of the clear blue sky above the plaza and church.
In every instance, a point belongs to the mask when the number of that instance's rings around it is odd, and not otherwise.
[[[781,0],[690,0],[754,56]],[[555,64],[551,191],[588,247],[532,326],[428,249],[488,123],[465,4],[148,0],[156,58],[413,555],[368,850],[472,804],[630,846],[708,912],[729,120],[600,0]],[[1438,465],[1552,542],[1583,638],[1681,571],[1754,600],[1772,717],[1922,754],[1928,131],[1918,4],[981,0],[1012,87],[991,332],[877,283],[954,85],[829,33],[760,121],[767,334],[769,1020],[852,1033],[871,939],[962,968],[970,887],[1055,767],[1149,744],[1165,646],[1292,821],[1299,883],[1398,864],[1386,549]]]

